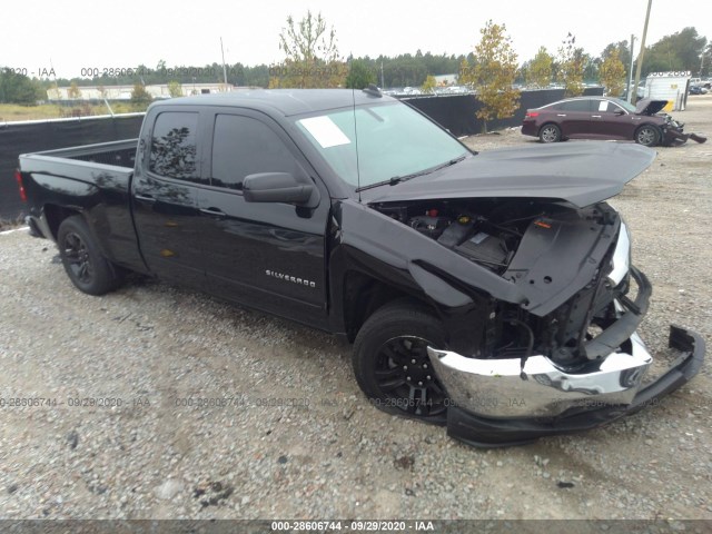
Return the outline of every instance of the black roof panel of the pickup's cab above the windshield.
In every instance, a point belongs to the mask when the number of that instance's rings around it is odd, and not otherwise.
[[[387,100],[395,101],[396,99],[352,89],[256,89],[171,98],[156,102],[151,107],[198,105],[269,108],[271,111],[288,117]]]

